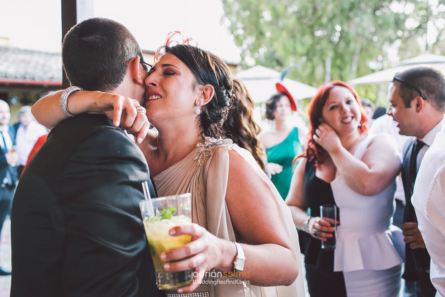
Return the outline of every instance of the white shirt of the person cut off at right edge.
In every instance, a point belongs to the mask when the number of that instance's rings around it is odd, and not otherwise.
[[[431,256],[430,278],[437,297],[445,297],[445,121],[425,153],[411,198],[419,230]],[[429,137],[425,137],[428,145]]]

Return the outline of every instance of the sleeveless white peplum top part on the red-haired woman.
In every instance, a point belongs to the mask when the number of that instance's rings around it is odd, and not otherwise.
[[[362,140],[354,153],[361,159],[375,134]],[[340,175],[331,182],[340,209],[334,271],[384,270],[401,264],[405,244],[401,230],[392,225],[396,180],[374,196],[354,192]]]

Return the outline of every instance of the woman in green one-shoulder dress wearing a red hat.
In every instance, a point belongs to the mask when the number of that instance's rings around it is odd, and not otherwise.
[[[277,83],[277,91],[279,93],[266,103],[266,118],[275,125],[260,135],[260,144],[266,149],[270,179],[281,197],[286,199],[293,173],[292,161],[303,152],[307,130],[290,123],[292,111],[297,111],[292,95],[280,83]]]

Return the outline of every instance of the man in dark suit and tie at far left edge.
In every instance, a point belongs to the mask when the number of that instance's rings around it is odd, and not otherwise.
[[[18,161],[16,153],[11,152],[15,145],[14,125],[9,122],[11,112],[9,105],[0,100],[0,232],[3,222],[9,213],[17,183],[17,170],[14,168]],[[0,268],[0,275],[10,275],[11,272]]]

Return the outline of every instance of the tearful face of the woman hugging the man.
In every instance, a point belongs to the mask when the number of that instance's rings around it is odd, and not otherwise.
[[[168,52],[153,65],[145,79],[145,108],[149,121],[192,116],[198,94],[195,77],[190,69]]]

